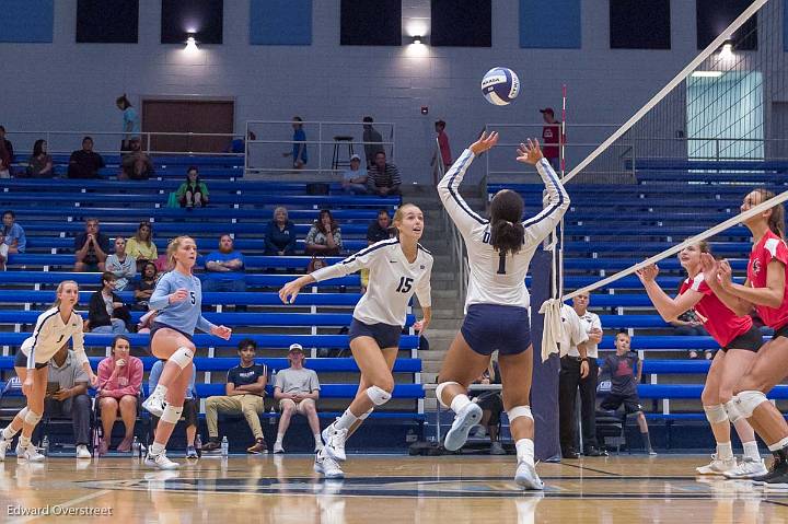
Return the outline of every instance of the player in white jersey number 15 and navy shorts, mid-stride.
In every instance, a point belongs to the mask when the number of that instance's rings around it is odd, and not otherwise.
[[[288,282],[279,291],[282,302],[292,303],[301,288],[311,282],[344,277],[361,268],[370,271],[369,287],[356,304],[348,334],[350,350],[361,371],[358,393],[341,417],[323,430],[325,447],[315,456],[315,470],[328,478],[345,475],[336,463],[346,458],[345,441],[375,407],[391,399],[392,369],[414,293],[424,312],[424,319],[414,328],[424,333],[432,317],[432,255],[418,243],[424,232],[424,213],[405,203],[394,214],[393,224],[396,238],[372,244],[339,264]]]

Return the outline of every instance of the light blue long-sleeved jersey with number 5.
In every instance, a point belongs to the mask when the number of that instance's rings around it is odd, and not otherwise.
[[[188,296],[171,304],[170,295],[179,289],[185,289]],[[188,335],[194,335],[195,327],[205,333],[216,327],[202,316],[202,286],[194,275],[187,277],[177,271],[164,273],[157,282],[148,307],[159,312],[155,322]]]

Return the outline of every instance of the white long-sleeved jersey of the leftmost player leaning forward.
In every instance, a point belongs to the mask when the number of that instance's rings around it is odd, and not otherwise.
[[[33,336],[22,342],[20,351],[27,356],[27,369],[35,364],[49,362],[68,339],[73,340],[74,357],[80,365],[88,362],[84,352],[84,334],[82,333],[82,317],[71,312],[68,322],[63,322],[57,307],[45,311],[38,315]]]

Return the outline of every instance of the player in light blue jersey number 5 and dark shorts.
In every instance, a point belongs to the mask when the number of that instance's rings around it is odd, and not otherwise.
[[[202,288],[192,275],[197,260],[197,244],[189,236],[178,236],[167,246],[170,267],[174,268],[157,282],[148,302],[159,312],[151,327],[151,353],[165,360],[159,384],[142,407],[160,418],[155,440],[148,450],[146,465],[175,469],[178,464],[166,457],[165,446],[183,412],[186,386],[192,377],[195,328],[228,340],[232,330],[215,326],[202,317]],[[184,370],[188,370],[184,372]]]

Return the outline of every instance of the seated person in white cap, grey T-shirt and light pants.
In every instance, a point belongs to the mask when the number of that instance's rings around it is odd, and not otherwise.
[[[296,414],[306,417],[315,441],[315,453],[317,453],[323,447],[315,406],[315,401],[320,398],[317,373],[303,366],[304,354],[300,343],[290,345],[288,360],[290,368],[279,371],[274,383],[274,399],[279,401],[281,411],[274,453],[285,453],[282,447],[285,433],[290,427],[290,419]]]

